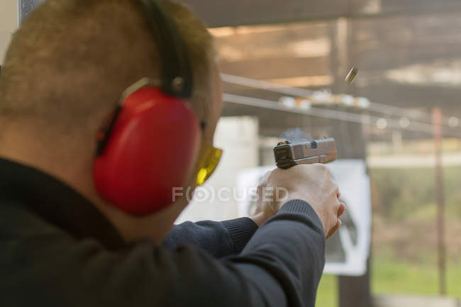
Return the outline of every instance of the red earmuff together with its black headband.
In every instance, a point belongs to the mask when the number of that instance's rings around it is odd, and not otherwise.
[[[168,206],[172,188],[187,183],[203,125],[184,100],[191,97],[194,80],[176,24],[159,1],[138,4],[157,42],[160,80],[141,79],[126,89],[99,132],[93,177],[103,199],[143,215]]]

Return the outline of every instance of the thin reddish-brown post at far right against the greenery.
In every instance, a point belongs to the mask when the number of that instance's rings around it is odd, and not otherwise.
[[[445,197],[443,195],[443,168],[442,168],[442,112],[440,108],[433,108],[432,124],[435,151],[435,202],[437,203],[437,257],[438,257],[438,292],[446,294],[445,284]]]

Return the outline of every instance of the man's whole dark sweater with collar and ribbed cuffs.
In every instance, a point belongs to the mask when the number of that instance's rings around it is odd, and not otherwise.
[[[295,200],[249,218],[177,225],[164,246],[126,245],[94,206],[36,169],[0,160],[1,306],[314,306],[321,221]]]

